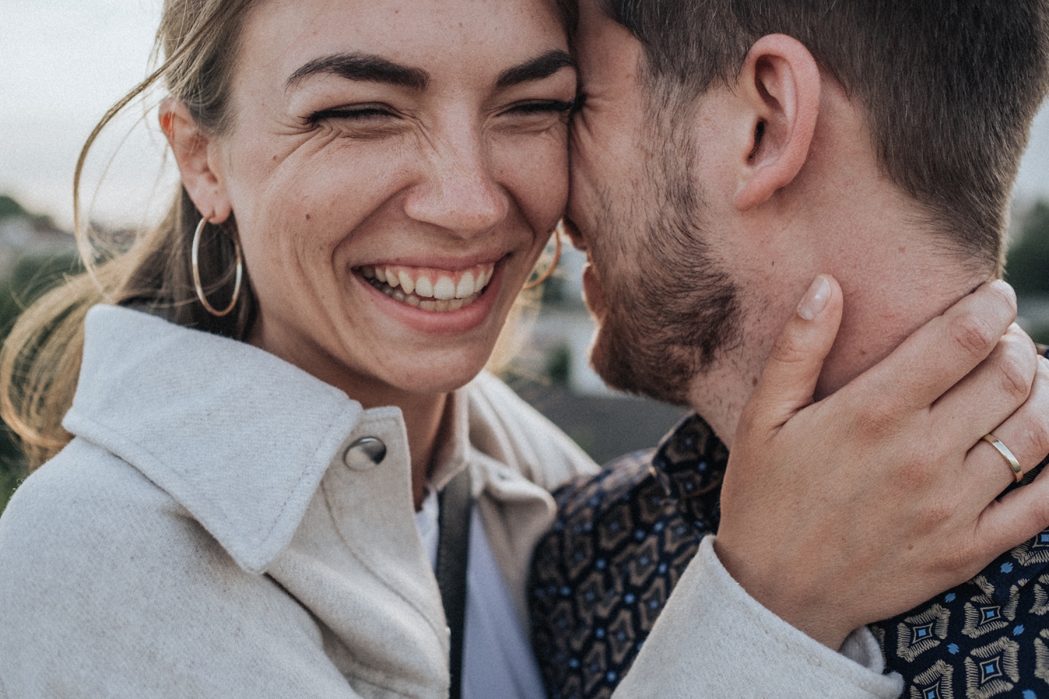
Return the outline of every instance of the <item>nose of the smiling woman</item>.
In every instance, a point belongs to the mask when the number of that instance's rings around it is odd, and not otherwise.
[[[464,237],[489,232],[510,210],[481,137],[461,134],[431,152],[426,180],[412,188],[405,213]]]

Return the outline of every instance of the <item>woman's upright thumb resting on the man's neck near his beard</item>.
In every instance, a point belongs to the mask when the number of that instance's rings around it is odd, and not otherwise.
[[[774,430],[812,402],[823,359],[840,324],[841,287],[833,277],[820,275],[772,346],[745,411],[751,420]]]

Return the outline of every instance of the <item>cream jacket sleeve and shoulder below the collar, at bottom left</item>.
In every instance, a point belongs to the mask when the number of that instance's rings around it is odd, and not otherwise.
[[[367,694],[304,609],[138,472],[111,456],[56,461],[0,518],[0,697]]]

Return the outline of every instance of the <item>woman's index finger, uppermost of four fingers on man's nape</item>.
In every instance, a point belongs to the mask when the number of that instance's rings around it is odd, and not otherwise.
[[[844,390],[893,396],[891,408],[899,413],[930,406],[990,354],[1015,318],[1012,287],[988,282],[918,328]]]

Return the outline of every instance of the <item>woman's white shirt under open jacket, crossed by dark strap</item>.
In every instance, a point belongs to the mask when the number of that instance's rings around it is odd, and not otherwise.
[[[415,525],[430,565],[437,565],[437,495],[433,488],[415,512]],[[463,699],[544,699],[528,629],[514,610],[507,583],[492,554],[477,506],[470,516]]]

